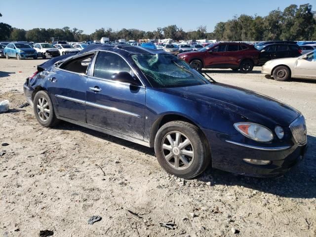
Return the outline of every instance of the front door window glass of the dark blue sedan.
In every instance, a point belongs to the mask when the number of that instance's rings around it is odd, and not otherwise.
[[[93,76],[102,79],[111,79],[119,72],[131,73],[132,70],[125,60],[115,53],[100,51],[94,64]]]

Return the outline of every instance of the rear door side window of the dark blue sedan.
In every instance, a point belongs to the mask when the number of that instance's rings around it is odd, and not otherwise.
[[[93,56],[94,56],[94,53],[85,55],[83,57],[71,59],[61,64],[59,68],[70,71],[70,72],[74,72],[74,73],[86,74]]]

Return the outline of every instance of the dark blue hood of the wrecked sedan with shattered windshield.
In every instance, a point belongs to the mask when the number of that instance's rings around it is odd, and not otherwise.
[[[234,112],[249,121],[266,123],[267,120],[288,126],[300,112],[271,97],[222,83],[188,87],[167,88],[169,93],[184,98],[193,98],[197,103],[206,103]]]

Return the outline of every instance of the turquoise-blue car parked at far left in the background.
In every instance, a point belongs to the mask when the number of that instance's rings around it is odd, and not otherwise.
[[[7,59],[38,58],[37,51],[26,43],[9,43],[3,49],[3,53]]]

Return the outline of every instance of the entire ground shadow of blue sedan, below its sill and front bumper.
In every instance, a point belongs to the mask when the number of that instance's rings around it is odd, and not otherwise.
[[[155,156],[153,148],[107,135],[89,128],[62,121],[54,129],[80,131],[88,135],[116,143],[146,155]],[[212,185],[242,186],[280,197],[316,198],[316,137],[308,136],[308,150],[301,163],[278,178],[255,178],[213,169],[211,166],[195,179]]]

